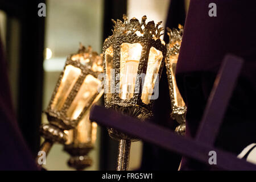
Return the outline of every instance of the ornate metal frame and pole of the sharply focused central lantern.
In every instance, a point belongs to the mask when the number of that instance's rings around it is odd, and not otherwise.
[[[141,23],[138,19],[132,18],[128,21],[127,16],[123,15],[123,22],[121,20],[113,20],[114,30],[113,35],[109,36],[103,44],[103,67],[105,76],[105,107],[109,109],[117,110],[123,114],[130,115],[131,117],[136,117],[143,121],[144,119],[152,117],[152,104],[154,100],[150,100],[148,104],[142,102],[142,79],[140,75],[147,73],[147,63],[150,54],[151,47],[154,47],[158,51],[162,52],[162,60],[159,65],[159,79],[162,73],[164,60],[166,59],[167,47],[163,40],[160,39],[160,34],[163,30],[162,27],[158,26],[162,22],[157,24],[154,21],[146,23],[146,16],[142,17]],[[144,28],[142,29],[142,26]],[[138,36],[137,32],[140,32],[142,36]],[[129,100],[123,100],[119,97],[119,93],[112,93],[110,101],[106,94],[106,50],[110,47],[113,48],[113,68],[115,70],[114,77],[117,78],[120,73],[120,62],[121,62],[121,45],[123,43],[135,44],[139,43],[142,46],[141,57],[139,59],[137,78],[135,85],[139,86],[139,92],[133,93],[133,97]],[[156,79],[156,81],[158,81]],[[110,84],[119,85],[119,80],[114,82],[110,81]],[[155,85],[154,85],[155,86]],[[127,170],[129,167],[129,154],[131,141],[138,140],[137,138],[126,135],[125,133],[119,132],[115,129],[108,129],[109,135],[115,140],[119,140],[119,153],[118,153],[118,166],[117,170]]]

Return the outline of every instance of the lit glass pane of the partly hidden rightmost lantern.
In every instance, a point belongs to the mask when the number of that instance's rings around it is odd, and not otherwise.
[[[183,101],[183,98],[180,95],[179,89],[177,88],[176,84],[176,65],[177,65],[177,59],[179,57],[179,54],[172,55],[169,58],[170,65],[171,65],[171,76],[172,76],[172,86],[174,87],[174,102],[176,106],[185,106],[185,102]]]

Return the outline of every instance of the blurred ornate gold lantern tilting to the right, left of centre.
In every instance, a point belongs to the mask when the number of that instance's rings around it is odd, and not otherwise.
[[[86,49],[80,44],[78,53],[68,56],[45,111],[49,123],[40,127],[45,139],[40,150],[46,155],[54,142],[68,141],[64,130],[74,129],[103,94],[103,90],[98,92],[101,87],[98,75],[102,69],[102,57],[90,46]]]

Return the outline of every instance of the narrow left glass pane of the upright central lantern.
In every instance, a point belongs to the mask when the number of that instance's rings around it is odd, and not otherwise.
[[[114,51],[112,46],[106,49],[105,51],[105,67],[106,67],[106,100],[110,101],[112,98],[112,93],[114,93],[113,86],[111,85],[111,80],[114,78],[114,63],[113,63],[113,56],[114,56]]]

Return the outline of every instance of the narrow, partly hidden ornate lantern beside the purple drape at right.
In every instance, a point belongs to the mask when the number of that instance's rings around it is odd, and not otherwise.
[[[180,95],[179,89],[177,88],[175,78],[177,59],[179,57],[180,45],[183,35],[183,26],[179,24],[179,30],[176,28],[171,30],[167,27],[167,34],[169,36],[169,43],[167,44],[167,56],[165,61],[171,97],[171,117],[180,123],[180,125],[176,127],[175,132],[184,135],[185,115],[187,112],[187,107]]]

